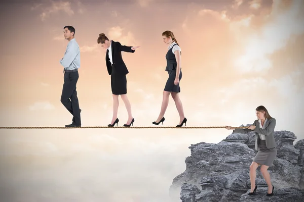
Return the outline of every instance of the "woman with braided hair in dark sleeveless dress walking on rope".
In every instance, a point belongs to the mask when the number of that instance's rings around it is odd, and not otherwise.
[[[162,35],[163,35],[164,43],[169,45],[168,47],[169,50],[166,55],[166,60],[167,60],[166,71],[169,74],[169,78],[166,82],[163,92],[163,102],[162,102],[161,112],[159,114],[159,117],[157,118],[156,121],[153,122],[153,124],[159,125],[160,122],[162,122],[163,124],[163,122],[165,121],[164,115],[167,110],[169,104],[169,96],[171,94],[175,102],[175,106],[178,111],[179,119],[180,119],[179,124],[176,127],[181,127],[183,124],[186,125],[187,122],[187,119],[184,116],[182,103],[178,95],[178,93],[180,92],[179,81],[182,77],[181,64],[180,64],[181,49],[172,31],[165,31],[163,32]]]

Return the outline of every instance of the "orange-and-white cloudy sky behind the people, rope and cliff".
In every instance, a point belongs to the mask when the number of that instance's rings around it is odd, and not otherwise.
[[[60,103],[63,27],[81,48],[77,84],[83,126],[112,116],[110,76],[100,33],[124,45],[134,126],[153,126],[168,74],[162,32],[182,50],[180,98],[187,126],[253,123],[255,108],[276,118],[275,130],[302,133],[303,1],[115,0],[2,1],[1,126],[64,126]],[[127,121],[120,99],[119,126]],[[164,126],[179,122],[170,99]],[[217,143],[225,129],[1,129],[0,193],[6,201],[168,201],[184,171],[188,146]],[[26,199],[25,199],[26,198]],[[176,200],[175,200],[176,201]]]

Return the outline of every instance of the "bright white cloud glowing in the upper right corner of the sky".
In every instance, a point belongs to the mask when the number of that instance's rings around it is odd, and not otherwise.
[[[251,30],[249,37],[238,38],[245,46],[245,53],[235,61],[238,70],[262,72],[272,68],[268,56],[285,47],[293,35],[304,32],[302,19],[298,17],[303,3],[294,1],[288,10],[281,11],[280,1],[275,1],[268,16],[270,21],[261,30]]]

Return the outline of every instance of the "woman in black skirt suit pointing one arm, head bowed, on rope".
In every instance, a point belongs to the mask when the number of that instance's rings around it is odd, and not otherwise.
[[[118,113],[118,96],[121,95],[122,100],[125,103],[127,112],[128,112],[128,121],[124,124],[125,127],[130,127],[133,125],[134,118],[132,116],[131,104],[127,97],[127,77],[126,75],[129,73],[123,58],[122,51],[128,53],[134,53],[135,49],[139,46],[125,46],[120,42],[116,42],[113,40],[109,40],[104,33],[99,34],[97,39],[97,43],[101,44],[102,47],[106,48],[106,56],[105,62],[108,74],[111,75],[111,90],[113,96],[113,117],[111,123],[108,125],[109,127],[113,127],[118,125],[119,119],[117,118]]]

